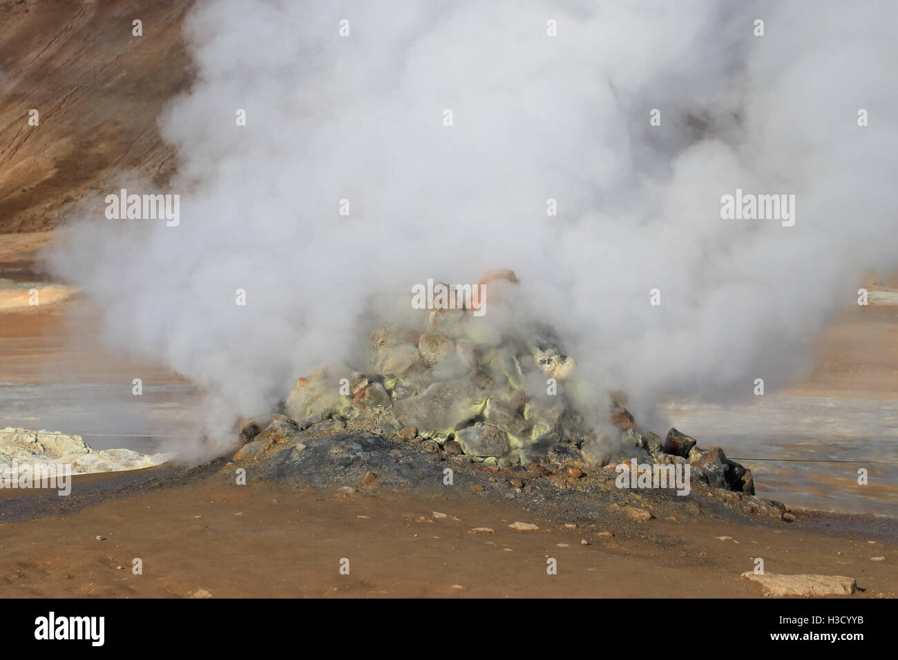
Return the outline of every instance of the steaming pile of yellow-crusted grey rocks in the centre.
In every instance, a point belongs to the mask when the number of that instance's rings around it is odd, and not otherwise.
[[[481,284],[502,314],[517,278],[499,272]],[[238,456],[297,429],[371,432],[498,468],[526,467],[550,452],[598,467],[630,459],[689,464],[693,481],[753,494],[751,472],[719,448],[700,449],[675,428],[662,439],[638,427],[621,397],[577,403],[584,383],[550,329],[506,317],[486,323],[470,309],[417,312],[372,332],[363,368],[333,366],[298,379],[279,415],[242,427],[242,440],[260,440]]]

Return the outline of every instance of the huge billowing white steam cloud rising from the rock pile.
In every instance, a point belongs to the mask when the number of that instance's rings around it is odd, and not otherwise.
[[[216,432],[354,350],[367,296],[488,268],[637,414],[775,388],[896,263],[896,24],[890,0],[200,2],[160,119],[180,226],[98,203],[53,263]],[[721,219],[737,188],[796,195],[795,226]]]

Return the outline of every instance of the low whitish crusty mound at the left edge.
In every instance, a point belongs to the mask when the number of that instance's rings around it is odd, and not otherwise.
[[[24,428],[0,429],[0,464],[19,467],[29,464],[69,464],[75,474],[138,470],[159,465],[172,458],[171,453],[146,454],[130,449],[102,449],[97,451],[81,436],[66,436],[48,431],[29,431]]]

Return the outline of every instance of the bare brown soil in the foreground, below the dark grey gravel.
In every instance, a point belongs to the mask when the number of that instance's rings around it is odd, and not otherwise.
[[[508,528],[520,520],[540,530]],[[769,572],[854,577],[854,597],[898,591],[894,542],[662,520],[607,538],[564,523],[463,496],[207,481],[0,524],[0,597],[752,597],[760,587],[739,576],[755,557]]]

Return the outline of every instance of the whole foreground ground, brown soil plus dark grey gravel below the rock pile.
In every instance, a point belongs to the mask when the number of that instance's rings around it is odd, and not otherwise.
[[[357,441],[371,448],[348,463],[343,447]],[[4,493],[0,521],[15,522],[0,523],[0,596],[761,597],[740,577],[758,557],[779,575],[850,576],[850,598],[898,592],[889,519],[793,511],[788,522],[712,489],[672,499],[537,480],[519,490],[482,466],[459,466],[447,487],[453,463],[374,443],[311,440],[306,468],[245,463],[245,486],[222,459],[76,476],[69,497]],[[638,522],[627,506],[654,517]],[[519,522],[538,529],[509,526]]]

